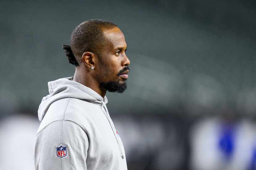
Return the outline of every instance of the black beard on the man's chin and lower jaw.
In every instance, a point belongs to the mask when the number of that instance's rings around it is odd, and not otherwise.
[[[126,79],[124,79],[126,81]],[[120,83],[119,81],[108,81],[108,82],[101,82],[100,88],[106,89],[109,92],[117,92],[123,93],[127,88],[126,82]]]

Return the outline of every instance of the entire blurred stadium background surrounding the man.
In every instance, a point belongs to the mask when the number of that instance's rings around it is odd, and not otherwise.
[[[33,170],[47,82],[73,76],[61,48],[100,18],[126,36],[128,89],[107,93],[129,170],[256,167],[256,2],[1,1],[0,170]]]

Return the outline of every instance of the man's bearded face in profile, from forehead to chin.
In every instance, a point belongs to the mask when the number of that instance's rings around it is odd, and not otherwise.
[[[122,93],[126,89],[126,80],[130,60],[126,56],[127,45],[122,31],[116,27],[104,31],[108,44],[99,56],[100,88],[109,92]]]

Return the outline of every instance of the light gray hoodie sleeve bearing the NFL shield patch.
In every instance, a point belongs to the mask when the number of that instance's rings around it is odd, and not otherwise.
[[[35,140],[35,170],[86,170],[89,139],[72,121],[54,121]]]

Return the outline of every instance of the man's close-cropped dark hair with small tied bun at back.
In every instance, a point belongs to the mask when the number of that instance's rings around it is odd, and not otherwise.
[[[62,45],[68,62],[79,66],[84,52],[89,51],[101,56],[102,49],[107,44],[103,31],[118,27],[112,22],[91,19],[79,24],[72,32],[70,45]]]

